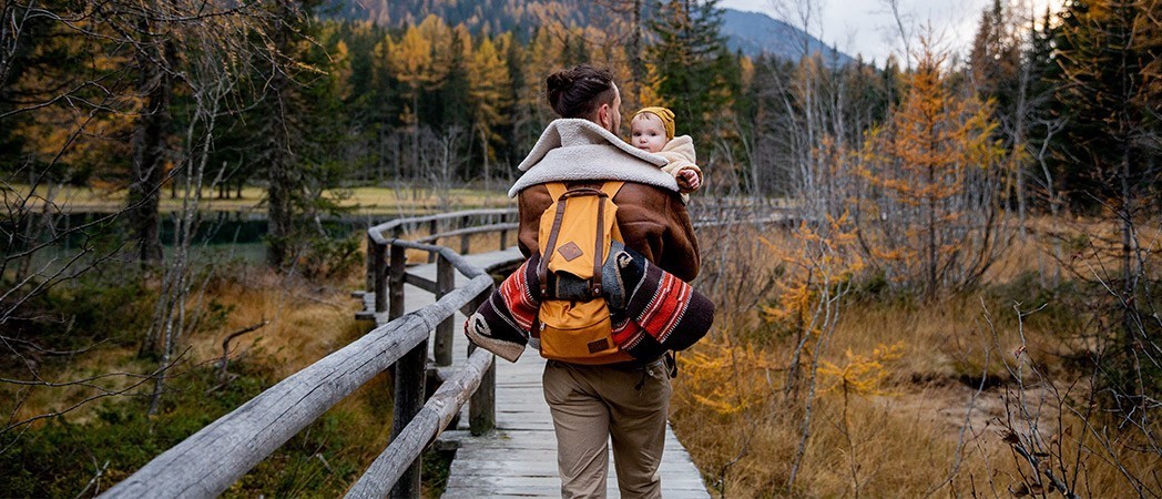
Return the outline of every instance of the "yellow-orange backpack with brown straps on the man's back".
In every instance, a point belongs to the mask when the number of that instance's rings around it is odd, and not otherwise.
[[[545,358],[574,364],[633,359],[614,343],[609,306],[601,294],[601,268],[610,243],[622,242],[614,195],[623,184],[607,181],[600,188],[546,184],[553,204],[541,214],[537,236],[541,302],[532,332]],[[550,272],[555,283],[581,280],[586,286],[579,295],[561,297],[560,286],[550,286]]]

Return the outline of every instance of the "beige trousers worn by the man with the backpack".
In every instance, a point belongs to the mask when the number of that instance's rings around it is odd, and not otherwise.
[[[557,432],[562,498],[604,498],[612,441],[623,498],[661,498],[669,375],[661,359],[579,365],[548,361],[545,401]]]

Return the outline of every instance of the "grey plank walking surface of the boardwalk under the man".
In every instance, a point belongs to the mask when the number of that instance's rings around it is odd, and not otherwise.
[[[467,258],[476,268],[485,268],[494,262],[519,258],[519,252],[516,248],[510,248],[469,255]],[[435,278],[436,265],[419,265],[408,272]],[[432,302],[430,293],[410,285],[407,287],[406,309],[413,311]],[[467,355],[464,320],[462,315],[457,314],[457,347],[451,369],[460,365]],[[429,342],[429,345],[432,343]],[[532,350],[526,350],[516,363],[496,359],[496,432],[488,436],[471,436],[466,429],[468,418],[465,408],[460,418],[461,428],[445,432],[440,436],[444,442],[458,445],[445,498],[561,496],[561,480],[557,472],[557,439],[548,406],[540,390],[544,365],[545,361]],[[609,471],[608,496],[621,497],[612,463]],[[710,497],[690,455],[669,428],[666,430],[666,451],[660,471],[665,498]]]

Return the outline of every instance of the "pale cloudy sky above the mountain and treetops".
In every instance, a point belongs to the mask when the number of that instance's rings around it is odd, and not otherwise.
[[[811,22],[809,31],[829,44],[835,44],[847,55],[863,55],[863,60],[875,60],[883,65],[888,55],[903,55],[903,42],[896,27],[895,17],[885,0],[813,0],[820,6],[819,15]],[[1021,0],[1043,15],[1046,5],[1059,5],[1060,0]],[[775,19],[782,19],[802,28],[798,15],[791,12],[791,17],[779,15],[779,5],[802,3],[802,0],[722,0],[719,7],[739,10],[761,12]],[[1005,0],[1005,3],[1016,3]],[[976,26],[981,13],[992,5],[992,0],[898,0],[902,19],[913,33],[931,22],[940,43],[962,56],[976,35]],[[914,47],[914,42],[913,42]]]

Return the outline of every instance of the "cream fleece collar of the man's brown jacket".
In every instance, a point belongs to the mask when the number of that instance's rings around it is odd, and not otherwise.
[[[589,120],[554,120],[517,166],[525,173],[512,184],[509,197],[532,185],[571,180],[625,180],[676,192],[674,177],[660,170],[666,163]]]

